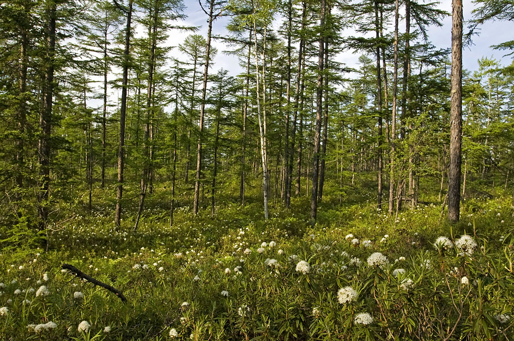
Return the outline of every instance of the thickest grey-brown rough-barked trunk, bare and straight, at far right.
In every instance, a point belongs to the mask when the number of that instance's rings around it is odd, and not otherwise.
[[[462,149],[462,0],[452,1],[450,167],[448,170],[448,220],[457,222],[461,202]]]

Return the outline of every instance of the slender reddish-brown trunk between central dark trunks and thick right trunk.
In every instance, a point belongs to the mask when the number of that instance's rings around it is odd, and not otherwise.
[[[398,94],[398,0],[395,1],[394,10],[394,70],[393,70],[393,108],[391,114],[391,154],[389,156],[389,214],[394,209],[394,167],[395,167],[395,140],[396,140],[396,102]]]

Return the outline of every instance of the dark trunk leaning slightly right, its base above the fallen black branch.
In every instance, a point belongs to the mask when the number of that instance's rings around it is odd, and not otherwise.
[[[117,228],[121,224],[121,200],[123,198],[123,168],[125,154],[125,118],[127,106],[127,83],[128,83],[128,55],[130,53],[130,36],[132,20],[132,0],[128,2],[127,23],[125,28],[125,51],[123,52],[123,85],[121,88],[120,107],[120,145],[118,148],[118,189],[116,192],[116,214],[114,223]]]

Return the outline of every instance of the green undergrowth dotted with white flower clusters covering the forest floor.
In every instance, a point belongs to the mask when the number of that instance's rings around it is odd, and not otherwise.
[[[376,209],[370,186],[327,191],[314,227],[307,196],[290,209],[278,199],[265,221],[257,194],[245,206],[218,199],[214,217],[208,209],[195,217],[179,200],[170,227],[167,190],[155,188],[136,232],[130,217],[115,229],[113,203],[99,193],[91,212],[75,206],[49,226],[46,248],[2,251],[0,339],[514,335],[514,210],[501,189],[467,199],[455,225],[437,193],[415,207],[404,202],[395,221],[387,203]],[[434,244],[439,236],[448,239]]]

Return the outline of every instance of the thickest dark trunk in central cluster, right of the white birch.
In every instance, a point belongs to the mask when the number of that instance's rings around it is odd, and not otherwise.
[[[321,0],[321,18],[320,18],[320,37],[319,37],[319,54],[318,54],[318,84],[316,87],[316,130],[314,133],[314,149],[313,149],[313,185],[310,196],[310,221],[314,225],[318,214],[318,172],[320,162],[320,135],[321,135],[321,113],[322,113],[322,97],[323,97],[323,57],[324,57],[324,34],[325,28],[325,10],[326,0]]]

